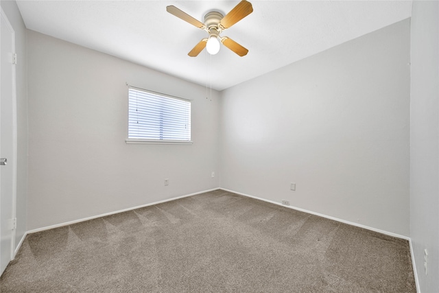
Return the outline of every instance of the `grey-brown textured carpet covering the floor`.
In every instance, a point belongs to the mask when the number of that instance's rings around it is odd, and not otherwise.
[[[27,235],[1,292],[416,292],[406,240],[216,190]]]

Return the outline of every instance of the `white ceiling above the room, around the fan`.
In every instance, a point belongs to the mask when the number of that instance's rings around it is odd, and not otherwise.
[[[254,1],[253,12],[222,33],[247,49],[215,56],[187,53],[206,32],[166,11],[195,19],[226,14],[239,1],[17,1],[29,30],[223,90],[379,30],[412,14],[412,1]]]

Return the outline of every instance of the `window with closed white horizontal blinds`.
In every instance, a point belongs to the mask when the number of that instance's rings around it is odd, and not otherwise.
[[[130,87],[126,142],[192,143],[191,102]]]

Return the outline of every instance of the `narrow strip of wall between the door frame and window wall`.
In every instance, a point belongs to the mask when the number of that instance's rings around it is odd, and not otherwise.
[[[27,45],[26,27],[15,1],[0,1],[15,32],[16,111],[17,111],[17,178],[15,245],[27,231]]]

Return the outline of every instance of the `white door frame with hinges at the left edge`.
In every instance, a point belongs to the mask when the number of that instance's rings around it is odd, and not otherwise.
[[[10,31],[12,35],[12,54],[16,53],[15,50],[15,31],[9,22],[8,16],[6,16],[3,8],[0,7],[1,18],[5,21],[6,27]],[[1,24],[0,24],[1,25]],[[1,36],[0,36],[1,42]],[[12,56],[11,56],[12,58]],[[0,73],[1,74],[1,73]],[[0,77],[1,78],[1,77]],[[0,91],[0,99],[1,99],[1,91]],[[16,63],[12,63],[12,160],[8,160],[8,165],[11,163],[12,167],[12,219],[16,219],[16,175],[17,175],[17,114],[16,114]],[[1,121],[0,121],[1,123]],[[0,195],[1,196],[1,195]],[[1,218],[0,218],[1,220]],[[10,251],[10,259],[14,259],[16,255],[15,249],[15,237],[16,237],[16,224],[15,227],[12,228],[11,235],[11,251]]]

